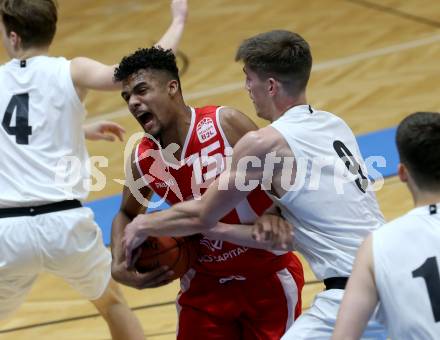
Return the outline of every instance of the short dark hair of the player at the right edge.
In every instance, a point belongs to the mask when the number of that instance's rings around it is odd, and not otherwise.
[[[406,117],[396,133],[400,161],[417,186],[440,190],[440,113],[416,112]]]

